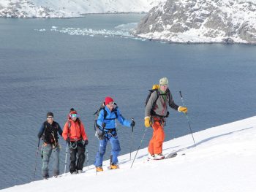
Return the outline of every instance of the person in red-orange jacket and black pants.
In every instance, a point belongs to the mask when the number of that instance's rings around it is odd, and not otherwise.
[[[78,112],[74,110],[74,108],[71,108],[69,111],[62,137],[69,145],[69,172],[71,174],[82,173],[83,163],[86,160],[85,147],[88,145],[88,138],[83,123],[80,118],[78,118]]]

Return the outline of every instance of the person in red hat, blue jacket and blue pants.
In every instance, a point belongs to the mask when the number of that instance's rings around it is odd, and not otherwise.
[[[116,132],[116,119],[123,126],[132,127],[135,126],[134,120],[126,120],[118,109],[116,103],[109,96],[105,98],[105,107],[99,111],[99,117],[97,118],[97,137],[99,139],[99,149],[95,158],[94,165],[97,172],[102,172],[103,155],[105,154],[108,141],[111,144],[111,156],[109,169],[118,169],[118,154],[121,150],[120,143]]]

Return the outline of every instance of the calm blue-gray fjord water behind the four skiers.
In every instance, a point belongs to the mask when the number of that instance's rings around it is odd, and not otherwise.
[[[112,96],[125,118],[135,118],[132,149],[137,150],[145,129],[144,101],[160,77],[169,78],[176,104],[182,104],[178,93],[182,91],[192,131],[255,115],[255,46],[179,45],[50,31],[52,26],[116,30],[115,26],[142,17],[0,19],[0,189],[29,183],[36,161],[36,180],[41,179],[40,153],[35,158],[37,131],[48,111],[63,126],[69,109],[78,110],[93,164],[98,147],[93,114],[105,96]],[[148,128],[142,147],[148,145],[151,132]],[[185,116],[170,110],[165,139],[189,133]],[[121,154],[129,153],[131,129],[118,124],[118,137]],[[66,144],[63,139],[60,144],[62,173]],[[110,145],[105,158],[109,155]]]

